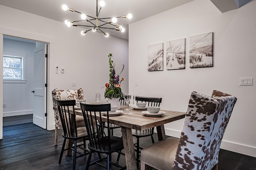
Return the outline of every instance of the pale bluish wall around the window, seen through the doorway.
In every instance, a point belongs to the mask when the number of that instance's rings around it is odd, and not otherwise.
[[[10,81],[3,83],[3,117],[14,115],[33,114],[33,50],[36,43],[33,41],[22,42],[11,39],[4,39],[4,55],[23,57],[26,65],[24,66],[24,75],[26,82],[12,83]]]

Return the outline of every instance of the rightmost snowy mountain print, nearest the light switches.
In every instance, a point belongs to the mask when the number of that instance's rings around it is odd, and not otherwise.
[[[212,32],[190,37],[190,68],[212,67],[212,39]]]

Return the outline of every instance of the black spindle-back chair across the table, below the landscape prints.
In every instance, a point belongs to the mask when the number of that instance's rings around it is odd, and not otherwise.
[[[160,106],[160,103],[162,102],[162,98],[151,98],[151,97],[142,97],[142,96],[135,96],[136,102],[146,102],[146,106]],[[143,131],[132,129],[132,136],[136,137],[137,142],[134,144],[136,147],[136,158],[137,158],[137,167],[139,166],[140,162],[140,150],[143,149],[140,147],[140,138],[142,137],[151,137],[152,143],[154,143],[154,127],[150,129],[146,129]]]

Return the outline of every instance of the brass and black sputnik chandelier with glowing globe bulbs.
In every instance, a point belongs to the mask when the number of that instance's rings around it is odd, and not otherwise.
[[[103,31],[102,29],[115,29],[116,31],[121,31],[121,32],[124,32],[124,27],[122,27],[122,25],[115,25],[114,23],[116,23],[117,21],[117,18],[132,18],[132,14],[128,14],[128,15],[125,15],[125,16],[120,16],[120,17],[114,17],[114,18],[99,18],[99,14],[100,14],[100,10],[102,9],[102,7],[105,5],[105,2],[103,0],[101,0],[99,2],[99,5],[100,5],[100,8],[99,8],[99,11],[98,11],[98,0],[96,0],[96,17],[92,17],[92,16],[88,16],[86,14],[82,14],[81,12],[78,12],[78,11],[75,11],[74,9],[72,8],[69,8],[68,6],[66,5],[62,5],[62,9],[65,10],[65,11],[70,11],[70,12],[77,12],[80,14],[80,17],[82,20],[78,20],[78,21],[69,21],[69,20],[66,20],[65,23],[68,27],[71,27],[71,26],[83,26],[83,27],[87,27],[89,29],[87,30],[84,30],[84,31],[81,31],[81,34],[82,35],[85,35],[88,31],[93,31],[95,32],[96,30],[99,30],[101,31],[105,37],[108,37],[108,33]],[[83,25],[81,23],[84,23],[84,22],[87,22],[88,25]],[[110,27],[106,27],[106,26],[110,26]]]

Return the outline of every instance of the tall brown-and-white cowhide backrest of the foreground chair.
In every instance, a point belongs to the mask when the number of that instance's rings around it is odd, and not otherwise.
[[[192,92],[173,170],[209,170],[218,163],[220,143],[236,103],[234,96]]]

